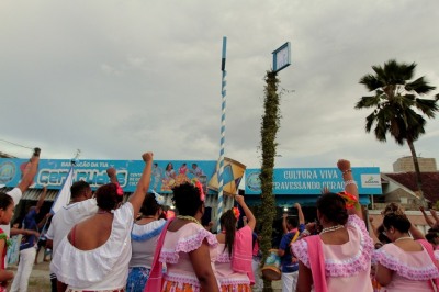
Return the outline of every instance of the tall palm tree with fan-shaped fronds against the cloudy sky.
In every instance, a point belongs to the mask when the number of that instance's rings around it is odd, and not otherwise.
[[[370,92],[374,91],[374,96],[362,97],[357,102],[356,109],[374,109],[365,117],[365,132],[370,133],[375,125],[374,133],[378,141],[386,142],[386,135],[390,133],[398,145],[407,143],[415,166],[416,183],[425,204],[414,142],[425,134],[424,116],[432,119],[439,110],[436,103],[439,94],[436,94],[435,99],[421,98],[431,93],[436,87],[430,86],[424,76],[412,81],[415,68],[415,63],[397,63],[394,59],[384,63],[384,67],[372,66],[375,74],[364,75],[360,83]]]

